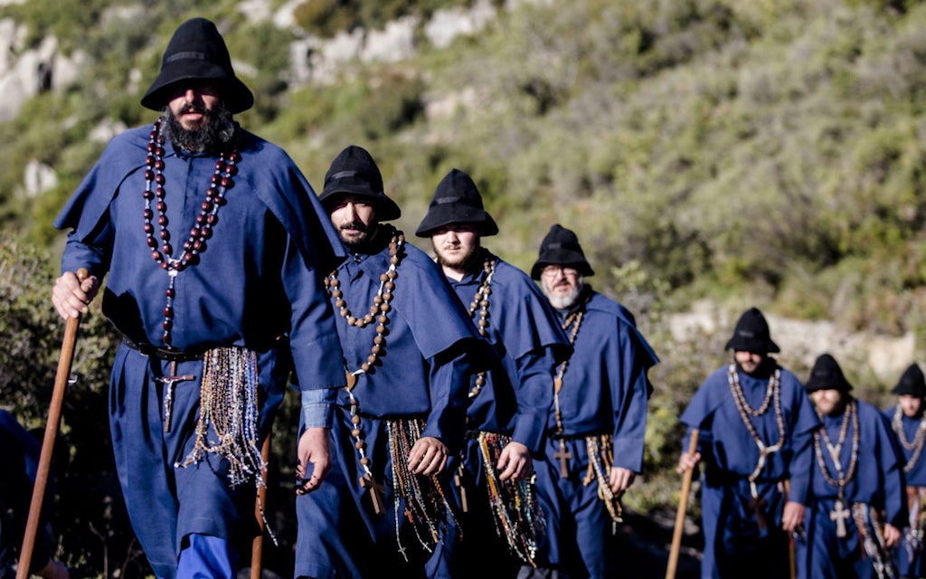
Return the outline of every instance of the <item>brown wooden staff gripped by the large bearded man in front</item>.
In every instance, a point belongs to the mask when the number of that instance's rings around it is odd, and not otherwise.
[[[88,275],[89,272],[83,268],[77,271],[77,279],[81,283],[87,279]],[[48,473],[51,470],[55,438],[58,427],[61,425],[61,407],[64,405],[65,390],[68,389],[70,364],[74,359],[74,345],[77,343],[77,329],[80,325],[81,317],[78,315],[77,318],[68,318],[68,324],[65,326],[64,341],[61,343],[61,356],[58,358],[58,368],[55,375],[55,389],[52,391],[52,402],[48,408],[48,421],[45,422],[42,453],[39,455],[39,464],[35,471],[35,483],[32,485],[29,518],[26,520],[26,530],[22,535],[22,548],[19,549],[16,579],[29,577],[32,549],[35,547],[35,535],[39,530],[42,501],[45,495],[45,487],[48,485]]]

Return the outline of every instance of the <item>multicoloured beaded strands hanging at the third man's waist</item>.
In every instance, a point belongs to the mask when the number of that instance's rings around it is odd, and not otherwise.
[[[502,449],[511,442],[504,434],[479,434],[482,471],[489,486],[489,503],[494,513],[495,533],[504,536],[511,552],[536,567],[537,543],[544,533],[544,513],[537,503],[532,480],[503,481],[495,464]]]

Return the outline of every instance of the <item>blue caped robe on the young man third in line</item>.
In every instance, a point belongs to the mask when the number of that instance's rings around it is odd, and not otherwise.
[[[482,268],[486,255],[483,251],[476,259],[478,267],[460,281],[448,278],[467,308],[487,275]],[[460,577],[484,571],[485,560],[494,561],[495,573],[513,577],[523,563],[509,551],[506,537],[495,531],[498,523],[490,509],[477,436],[480,432],[506,434],[512,441],[528,447],[532,456],[538,456],[544,424],[553,403],[552,372],[572,351],[555,311],[526,273],[498,259],[489,289],[492,293],[488,298],[485,337],[500,364],[486,372],[482,390],[469,398],[468,436],[463,455],[468,512],[460,525],[462,542],[454,546],[452,554],[444,554],[452,558],[455,573]],[[477,307],[474,322],[481,319],[479,311]],[[473,385],[475,377],[470,387]],[[459,500],[459,486],[454,485],[454,490]]]

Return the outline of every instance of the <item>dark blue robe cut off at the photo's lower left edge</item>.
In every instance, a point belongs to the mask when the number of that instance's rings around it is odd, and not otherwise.
[[[13,415],[0,409],[0,464],[3,465],[0,469],[0,577],[16,574],[13,567],[19,560],[41,454],[39,441]],[[32,544],[32,572],[44,567],[55,548],[45,530],[54,508],[54,479],[54,472],[49,473],[42,502],[42,525]]]

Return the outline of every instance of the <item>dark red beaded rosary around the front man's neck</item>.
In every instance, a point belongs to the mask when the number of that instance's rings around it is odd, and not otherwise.
[[[164,190],[164,133],[162,131],[164,120],[155,121],[151,134],[148,137],[148,155],[144,165],[144,235],[148,247],[151,248],[151,258],[160,264],[161,269],[168,272],[169,285],[167,292],[167,305],[164,307],[164,321],[162,323],[164,334],[161,342],[170,347],[173,329],[174,308],[173,301],[176,296],[174,281],[181,271],[199,263],[199,256],[206,251],[206,240],[212,236],[212,228],[219,222],[219,208],[226,204],[225,193],[234,186],[232,177],[238,173],[237,164],[241,162],[241,155],[237,151],[227,153],[222,151],[216,161],[216,170],[212,175],[212,182],[206,189],[206,199],[203,201],[196,223],[190,230],[190,235],[183,243],[179,258],[172,257],[173,245],[170,244],[168,231],[167,202]],[[154,203],[154,208],[152,208]],[[159,231],[155,235],[155,219],[157,212],[157,225]],[[158,241],[158,238],[160,241]]]

